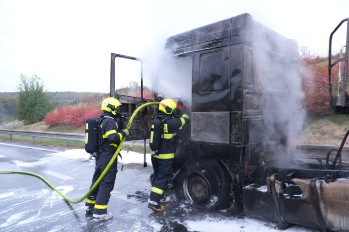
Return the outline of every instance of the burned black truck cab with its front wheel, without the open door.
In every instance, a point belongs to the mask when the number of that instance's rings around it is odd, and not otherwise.
[[[289,160],[292,134],[303,126],[297,43],[242,14],[167,45],[192,60],[190,140],[176,153],[185,160],[173,179],[176,196],[235,211],[245,185]]]

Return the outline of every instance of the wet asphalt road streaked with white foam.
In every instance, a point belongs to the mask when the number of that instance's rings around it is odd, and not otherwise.
[[[80,199],[91,184],[94,160],[78,157],[74,152],[71,155],[60,155],[62,151],[0,141],[0,170],[37,173],[68,198]],[[155,213],[147,208],[151,172],[152,166],[144,168],[143,163],[125,163],[122,172],[119,166],[108,204],[108,212],[113,213],[114,217],[103,223],[95,223],[91,216],[85,215],[84,202],[66,202],[38,178],[13,173],[0,174],[0,231],[279,231],[275,223],[236,218],[227,211],[199,211],[177,202],[168,203],[165,212]],[[316,230],[304,230],[296,226],[286,231]]]

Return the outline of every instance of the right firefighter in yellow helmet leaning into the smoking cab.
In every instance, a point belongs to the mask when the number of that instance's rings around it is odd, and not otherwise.
[[[182,114],[177,117],[179,109],[174,99],[164,99],[159,104],[159,113],[152,121],[149,146],[153,152],[152,164],[154,178],[152,190],[148,199],[148,208],[154,211],[164,211],[160,204],[167,182],[173,171],[176,135],[188,121],[189,116]]]

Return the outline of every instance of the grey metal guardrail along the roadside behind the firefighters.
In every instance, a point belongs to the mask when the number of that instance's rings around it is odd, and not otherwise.
[[[0,129],[0,134],[9,135],[9,139],[12,140],[13,135],[19,136],[30,136],[32,137],[32,142],[35,143],[36,137],[51,138],[51,139],[61,139],[63,140],[64,147],[67,146],[68,140],[85,141],[85,134],[73,134],[73,133],[58,133],[58,132],[42,132],[42,131],[20,131],[20,130],[5,130]],[[124,144],[131,144],[133,141],[125,142]],[[149,144],[149,140],[147,140]],[[144,146],[144,142],[135,143],[134,145]]]

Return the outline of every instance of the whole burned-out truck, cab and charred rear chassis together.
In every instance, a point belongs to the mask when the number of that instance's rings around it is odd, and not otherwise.
[[[245,13],[174,35],[166,49],[192,64],[191,120],[178,134],[170,185],[177,200],[204,210],[229,208],[282,229],[298,224],[349,231],[349,165],[334,169],[330,155],[325,164],[290,150],[285,128],[294,120],[292,110],[300,109],[284,106],[300,100],[291,94],[299,77],[296,41]],[[125,106],[145,102],[114,89],[111,96]],[[153,100],[161,100],[157,92]],[[146,138],[155,112],[147,108],[134,138]]]

